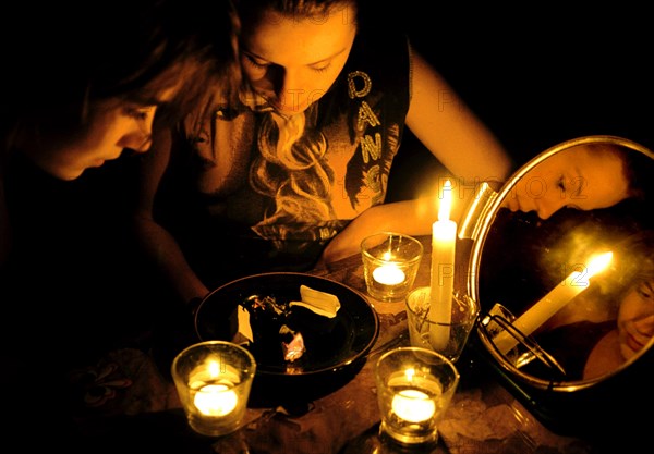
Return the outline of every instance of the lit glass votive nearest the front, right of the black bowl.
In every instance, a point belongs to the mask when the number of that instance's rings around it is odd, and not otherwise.
[[[411,346],[386,352],[375,365],[379,434],[404,445],[435,443],[459,379],[453,363],[434,351]]]

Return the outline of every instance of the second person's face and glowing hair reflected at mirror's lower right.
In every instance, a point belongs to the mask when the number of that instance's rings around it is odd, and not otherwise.
[[[628,235],[609,269],[554,315],[538,344],[558,358],[571,380],[619,368],[654,335],[654,233]]]

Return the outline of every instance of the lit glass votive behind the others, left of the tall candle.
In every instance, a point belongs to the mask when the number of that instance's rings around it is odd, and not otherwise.
[[[361,256],[368,295],[382,302],[400,302],[413,286],[423,245],[402,233],[376,233],[361,242]]]

